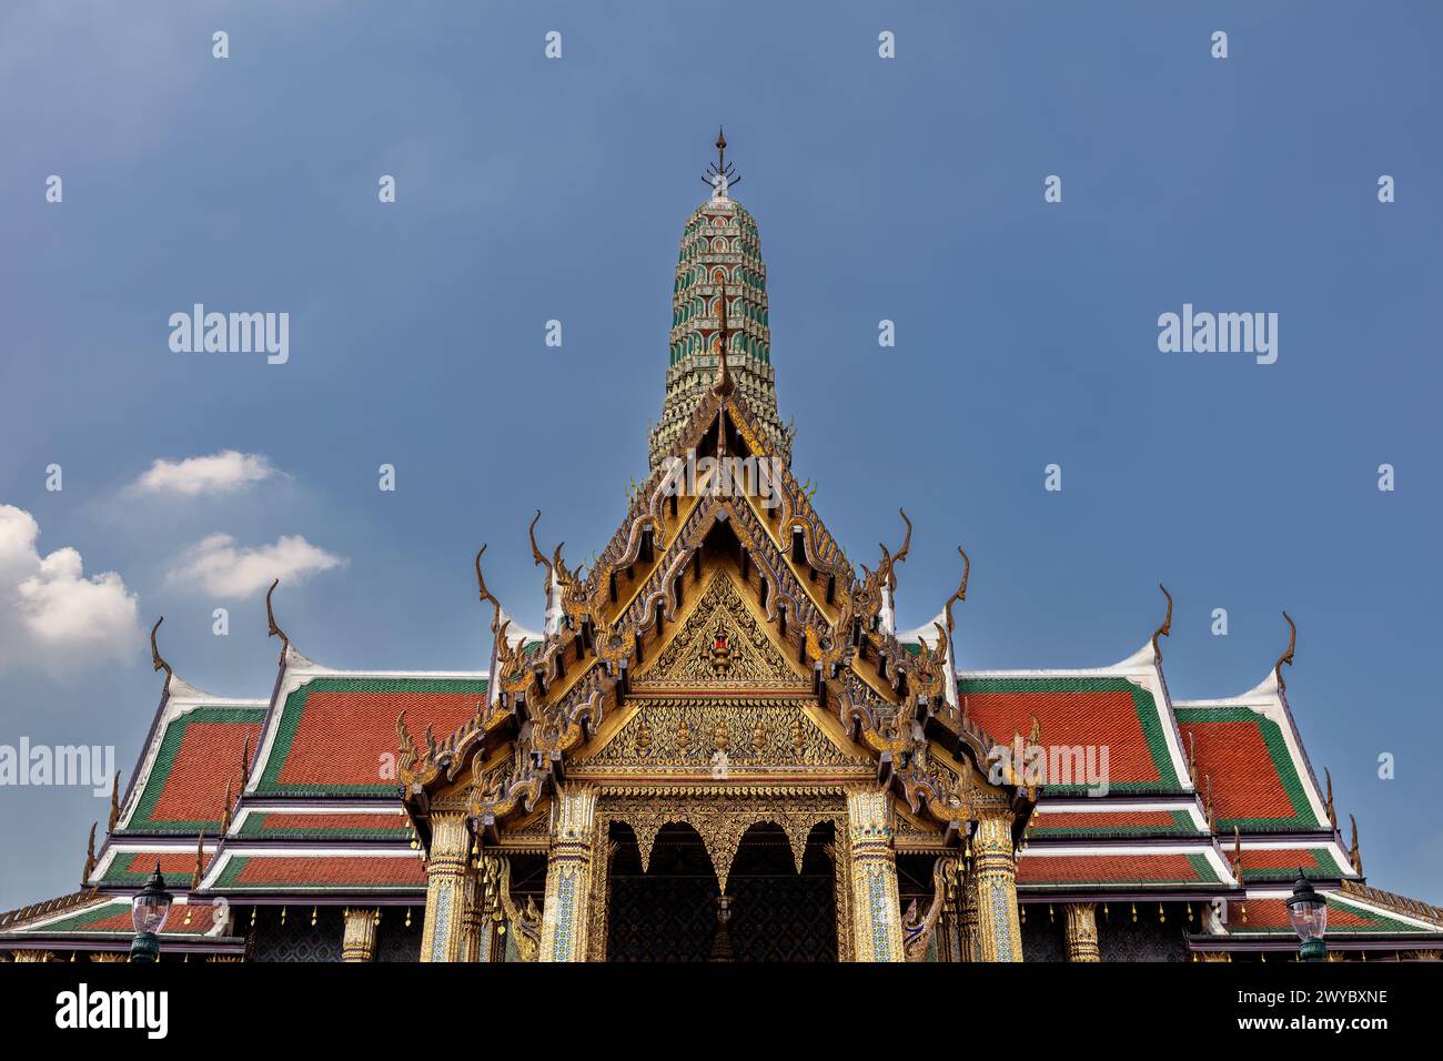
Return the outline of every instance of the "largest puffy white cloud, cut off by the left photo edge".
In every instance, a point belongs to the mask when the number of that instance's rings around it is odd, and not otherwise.
[[[81,554],[40,556],[40,524],[0,505],[0,671],[22,664],[52,673],[118,660],[141,639],[139,603],[115,572],[85,577]]]

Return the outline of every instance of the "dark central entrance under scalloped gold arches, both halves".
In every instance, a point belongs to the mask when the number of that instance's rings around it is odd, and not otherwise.
[[[797,872],[786,834],[752,826],[732,862],[726,935],[736,961],[835,961],[833,826],[812,829]],[[717,876],[691,826],[664,826],[649,872],[629,826],[613,823],[606,957],[609,961],[710,961],[717,951]]]

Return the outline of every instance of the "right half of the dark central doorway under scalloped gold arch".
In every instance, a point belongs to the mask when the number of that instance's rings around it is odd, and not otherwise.
[[[758,823],[746,830],[727,881],[727,928],[737,961],[837,960],[831,842],[830,821],[814,826],[798,873],[781,826]]]

